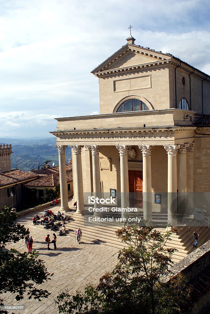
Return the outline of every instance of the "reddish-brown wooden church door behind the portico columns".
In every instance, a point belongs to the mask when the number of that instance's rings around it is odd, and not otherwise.
[[[142,171],[128,170],[130,206],[143,207]]]

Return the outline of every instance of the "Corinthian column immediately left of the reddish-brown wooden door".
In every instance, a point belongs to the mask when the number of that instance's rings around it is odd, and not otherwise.
[[[131,146],[116,145],[120,153],[121,208],[129,207],[128,150]]]

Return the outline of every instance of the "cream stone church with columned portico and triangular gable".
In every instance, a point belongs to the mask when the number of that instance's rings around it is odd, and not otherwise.
[[[65,148],[72,147],[74,198],[112,196],[144,219],[172,225],[192,208],[208,215],[210,76],[174,57],[127,44],[95,68],[100,114],[57,118],[62,210],[68,210]],[[210,215],[210,213],[209,213]]]

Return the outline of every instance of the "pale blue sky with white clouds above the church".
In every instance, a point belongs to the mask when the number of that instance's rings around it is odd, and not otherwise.
[[[0,137],[48,137],[55,117],[99,113],[90,73],[127,43],[210,74],[209,0],[0,0]]]

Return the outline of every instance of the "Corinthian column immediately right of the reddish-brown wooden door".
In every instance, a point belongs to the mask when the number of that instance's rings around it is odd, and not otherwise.
[[[153,145],[138,145],[143,155],[143,218],[152,221],[152,171],[151,153]]]

